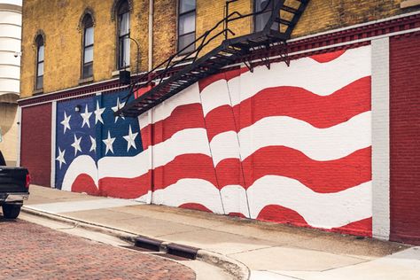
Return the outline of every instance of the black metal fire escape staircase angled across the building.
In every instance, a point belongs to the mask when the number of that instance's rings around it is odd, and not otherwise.
[[[253,65],[251,62],[246,61],[246,57],[249,57],[254,51],[261,51],[273,45],[276,45],[276,48],[280,46],[279,49],[283,50],[281,52],[284,55],[284,61],[289,63],[286,40],[290,39],[293,28],[298,23],[310,0],[269,0],[260,12],[252,12],[245,15],[239,12],[229,13],[229,4],[236,1],[226,2],[225,18],[213,28],[148,73],[134,78],[129,85],[126,105],[117,111],[115,115],[136,117],[183,89],[188,88],[193,83],[198,82],[198,80],[216,74],[222,67],[238,61],[245,63],[245,66],[252,71]],[[267,24],[260,32],[228,38],[229,34],[235,35],[229,28],[229,22],[268,14],[268,12],[269,18],[265,19]],[[199,54],[203,52],[203,49],[209,43],[214,42],[221,36],[224,37],[221,45],[199,57]],[[178,58],[191,45],[197,47],[196,51],[175,61],[175,58]],[[263,58],[262,61],[269,67],[268,58]],[[187,62],[191,62],[191,64],[183,66]],[[144,92],[143,95],[136,97],[137,90],[142,88],[149,90]],[[132,97],[134,100],[130,101],[129,99]]]

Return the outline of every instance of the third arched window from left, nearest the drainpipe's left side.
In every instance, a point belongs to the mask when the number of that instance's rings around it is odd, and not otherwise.
[[[129,66],[129,6],[122,1],[118,7],[118,69]]]

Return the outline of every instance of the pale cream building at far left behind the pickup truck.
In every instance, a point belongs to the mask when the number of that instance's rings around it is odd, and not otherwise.
[[[0,1],[0,151],[11,166],[18,148],[21,10]]]

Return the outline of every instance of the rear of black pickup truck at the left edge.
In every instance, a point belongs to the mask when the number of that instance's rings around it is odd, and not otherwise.
[[[16,219],[23,200],[29,197],[30,176],[26,168],[6,167],[0,151],[0,205],[6,219]]]

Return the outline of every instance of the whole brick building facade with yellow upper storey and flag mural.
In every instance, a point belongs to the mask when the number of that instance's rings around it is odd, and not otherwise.
[[[260,32],[270,3],[229,4],[254,12],[229,37]],[[65,191],[419,244],[420,3],[285,5],[280,31],[303,12],[286,48],[253,48],[128,118],[120,71],[141,84],[175,54],[206,59],[225,37],[194,40],[223,34],[225,2],[24,2],[19,163]]]

